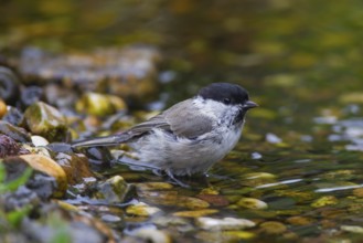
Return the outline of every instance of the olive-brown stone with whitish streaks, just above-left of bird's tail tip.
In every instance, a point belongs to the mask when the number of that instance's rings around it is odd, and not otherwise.
[[[24,122],[33,134],[40,135],[49,141],[64,140],[68,129],[64,116],[56,108],[43,102],[34,103],[26,108]]]

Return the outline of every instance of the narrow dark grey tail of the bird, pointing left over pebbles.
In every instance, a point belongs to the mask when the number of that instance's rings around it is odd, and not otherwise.
[[[73,148],[77,147],[97,147],[97,146],[115,146],[126,142],[130,139],[130,135],[127,133],[118,134],[107,137],[89,138],[85,140],[75,141],[72,144]]]

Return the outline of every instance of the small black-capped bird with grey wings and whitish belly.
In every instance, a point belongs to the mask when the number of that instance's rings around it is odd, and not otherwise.
[[[175,176],[204,175],[239,140],[247,110],[257,107],[233,83],[211,83],[191,98],[110,136],[75,141],[73,148],[128,144],[137,162]]]

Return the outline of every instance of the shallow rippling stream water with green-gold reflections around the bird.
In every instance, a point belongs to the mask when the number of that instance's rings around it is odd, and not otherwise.
[[[0,34],[0,45],[7,52],[29,44],[58,52],[152,44],[164,54],[160,93],[167,94],[168,104],[189,97],[206,83],[227,81],[244,85],[260,105],[248,113],[237,147],[210,171],[210,187],[192,179],[188,181],[192,189],[166,189],[195,197],[209,188],[221,203],[210,207],[217,212],[209,216],[249,219],[257,223],[255,228],[221,236],[194,228],[190,218],[163,224],[160,221],[174,218],[185,207],[147,194],[139,200],[161,212],[128,216],[125,228],[115,229],[132,235],[138,228],[157,228],[177,242],[360,241],[362,2],[106,1],[102,8],[96,2],[35,2],[32,7],[23,1],[4,3],[11,15],[3,14],[6,34]],[[168,181],[125,166],[105,172],[115,173],[130,182]],[[268,208],[238,205],[245,197],[259,199]],[[273,230],[266,222],[273,222]]]

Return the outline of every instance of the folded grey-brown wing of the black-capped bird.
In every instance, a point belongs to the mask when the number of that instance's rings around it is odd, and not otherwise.
[[[161,128],[175,136],[195,138],[212,129],[212,119],[202,116],[192,105],[192,99],[178,103],[163,113],[149,120],[136,125],[130,129],[135,136],[150,131],[152,128]]]

